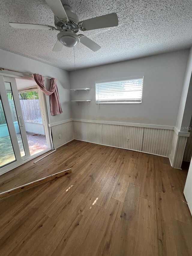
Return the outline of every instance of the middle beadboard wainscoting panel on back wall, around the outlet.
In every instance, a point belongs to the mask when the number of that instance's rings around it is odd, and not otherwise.
[[[143,127],[102,124],[102,144],[141,151],[143,129]],[[129,142],[127,137],[130,138]]]

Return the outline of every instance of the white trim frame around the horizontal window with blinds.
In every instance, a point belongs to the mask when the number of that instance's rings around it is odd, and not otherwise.
[[[114,79],[107,79],[107,80],[96,80],[95,81],[95,103],[96,104],[141,104],[142,96],[143,96],[143,86],[142,86],[141,102],[97,102],[97,100],[96,100],[96,84],[107,83],[107,82],[119,82],[119,81],[134,80],[134,79],[143,79],[143,82],[144,82],[144,76],[121,77],[121,78],[114,78]]]

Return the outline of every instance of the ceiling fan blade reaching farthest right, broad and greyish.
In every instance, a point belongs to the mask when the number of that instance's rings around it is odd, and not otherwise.
[[[116,13],[111,13],[80,21],[78,26],[82,31],[115,27],[118,26],[118,17]]]

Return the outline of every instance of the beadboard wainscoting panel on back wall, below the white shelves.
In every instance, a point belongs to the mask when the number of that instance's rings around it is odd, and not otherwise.
[[[74,138],[97,144],[102,144],[102,124],[73,121]]]

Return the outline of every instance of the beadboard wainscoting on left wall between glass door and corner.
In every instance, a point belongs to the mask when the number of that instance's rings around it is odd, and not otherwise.
[[[74,139],[73,121],[51,127],[54,149]],[[59,135],[61,134],[61,138]]]

